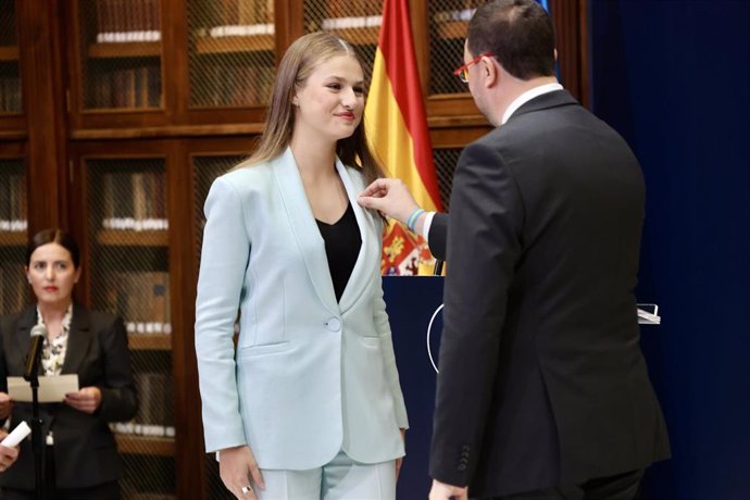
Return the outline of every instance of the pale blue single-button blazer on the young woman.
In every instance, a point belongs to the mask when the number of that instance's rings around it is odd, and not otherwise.
[[[322,466],[340,450],[364,463],[404,454],[382,221],[357,203],[359,171],[336,168],[362,237],[340,302],[290,149],[211,187],[196,303],[207,451],[248,443],[261,468],[285,470]]]

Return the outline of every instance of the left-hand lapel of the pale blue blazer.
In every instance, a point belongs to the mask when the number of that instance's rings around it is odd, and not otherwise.
[[[335,315],[340,314],[336,302],[334,283],[330,279],[325,241],[317,229],[308,196],[304,192],[297,162],[287,148],[285,153],[274,160],[273,172],[278,184],[284,207],[291,223],[297,247],[304,259],[315,292],[326,309]]]

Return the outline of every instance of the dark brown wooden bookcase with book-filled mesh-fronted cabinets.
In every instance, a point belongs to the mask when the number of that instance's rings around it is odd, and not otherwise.
[[[410,0],[446,205],[461,148],[489,130],[451,74],[478,3]],[[586,104],[585,0],[550,3],[561,79]],[[78,300],[128,324],[142,408],[116,428],[126,499],[232,498],[203,452],[197,389],[203,201],[253,150],[286,47],[329,29],[371,66],[378,15],[368,0],[0,3],[0,279],[23,278],[28,234],[67,227],[85,263]],[[26,301],[25,282],[10,289],[0,313]]]

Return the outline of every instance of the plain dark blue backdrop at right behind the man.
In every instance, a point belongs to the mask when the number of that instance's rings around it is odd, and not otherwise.
[[[591,0],[593,112],[646,177],[641,343],[673,458],[645,500],[750,499],[750,2]]]

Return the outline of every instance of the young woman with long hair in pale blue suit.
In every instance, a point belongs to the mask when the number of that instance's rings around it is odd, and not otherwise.
[[[364,85],[347,41],[295,41],[258,150],[205,202],[205,448],[240,499],[395,498],[408,421],[383,301],[383,221],[357,204],[382,176]]]

